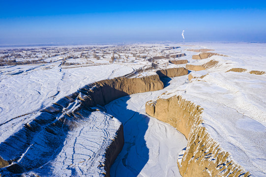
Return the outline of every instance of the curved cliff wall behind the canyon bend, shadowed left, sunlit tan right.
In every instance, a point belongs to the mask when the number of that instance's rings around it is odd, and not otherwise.
[[[114,78],[87,85],[79,91],[78,98],[86,107],[97,104],[103,106],[111,101],[130,94],[163,89],[163,83],[158,75],[143,78]]]

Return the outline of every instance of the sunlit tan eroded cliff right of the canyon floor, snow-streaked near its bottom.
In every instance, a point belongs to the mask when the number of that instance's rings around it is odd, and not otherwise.
[[[250,176],[232,159],[229,152],[211,138],[203,126],[203,111],[200,106],[181,96],[159,98],[146,103],[148,115],[171,124],[187,138],[187,147],[179,153],[177,160],[183,177]]]

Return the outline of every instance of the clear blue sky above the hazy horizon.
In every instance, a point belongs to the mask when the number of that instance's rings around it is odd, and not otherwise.
[[[0,0],[0,44],[266,42],[260,0]]]

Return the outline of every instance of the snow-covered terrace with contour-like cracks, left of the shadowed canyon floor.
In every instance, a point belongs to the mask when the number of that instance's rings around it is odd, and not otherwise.
[[[117,136],[121,122],[100,111],[84,112],[83,120],[69,131],[55,159],[24,175],[42,177],[103,177],[105,150]],[[95,153],[96,152],[96,153]]]

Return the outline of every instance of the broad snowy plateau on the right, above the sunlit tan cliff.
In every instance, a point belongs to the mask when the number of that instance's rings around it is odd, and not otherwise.
[[[215,59],[219,65],[206,71],[192,71],[193,76],[207,75],[194,78],[162,97],[182,95],[204,108],[204,126],[211,137],[252,175],[265,177],[266,75],[249,74],[248,71],[266,71],[266,44],[214,43],[205,46],[230,57],[190,59],[195,64]],[[247,71],[225,72],[233,67]]]

